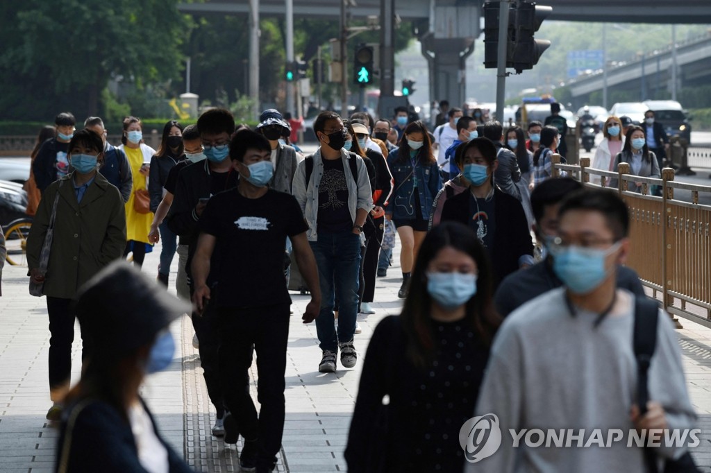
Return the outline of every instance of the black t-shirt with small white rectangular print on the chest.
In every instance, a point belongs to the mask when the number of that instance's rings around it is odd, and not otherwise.
[[[217,238],[217,307],[291,303],[284,279],[287,237],[309,228],[292,195],[268,190],[259,199],[247,199],[237,188],[220,192],[210,199],[198,225]]]

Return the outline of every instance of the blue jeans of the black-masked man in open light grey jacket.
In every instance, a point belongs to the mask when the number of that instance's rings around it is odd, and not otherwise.
[[[310,241],[319,268],[321,311],[316,318],[316,333],[322,350],[336,352],[338,342],[350,342],[358,314],[358,274],[360,237],[353,232],[321,233]],[[333,320],[333,304],[338,300],[338,338]]]

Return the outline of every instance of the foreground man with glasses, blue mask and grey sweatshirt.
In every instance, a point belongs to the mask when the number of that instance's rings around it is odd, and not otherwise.
[[[641,377],[633,340],[640,332],[636,326],[651,320],[649,312],[636,313],[648,301],[616,284],[630,246],[626,203],[608,190],[580,190],[562,202],[558,219],[550,251],[563,286],[515,310],[501,325],[474,415],[496,413],[502,432],[545,425],[555,432],[584,432],[586,439],[594,437],[594,430],[607,435],[619,429],[631,439],[634,430],[649,438],[653,431],[694,428],[679,342],[670,317],[654,304],[655,348],[648,376]],[[638,406],[645,381],[649,401]],[[570,446],[571,437],[567,440]],[[675,442],[655,443],[646,445],[658,462],[679,458],[687,449]],[[478,465],[465,471],[656,471],[626,441],[588,442],[584,448],[574,443],[570,448],[514,448],[513,442],[503,441]]]

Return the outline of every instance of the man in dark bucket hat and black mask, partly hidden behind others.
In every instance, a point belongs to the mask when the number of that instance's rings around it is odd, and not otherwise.
[[[284,117],[275,109],[264,110],[260,115],[257,131],[264,135],[272,146],[272,166],[274,175],[269,181],[269,187],[279,192],[292,193],[292,181],[296,172],[296,150],[287,144],[279,143],[284,131],[289,131],[289,125]]]

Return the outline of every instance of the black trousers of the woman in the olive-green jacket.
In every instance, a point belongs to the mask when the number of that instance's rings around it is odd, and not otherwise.
[[[69,388],[74,341],[74,304],[72,299],[47,296],[49,314],[49,387],[52,401],[60,402]],[[90,356],[92,342],[82,327],[82,361]]]

